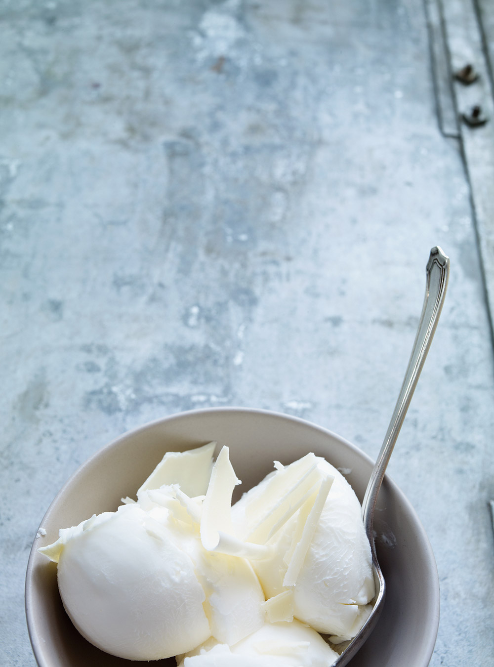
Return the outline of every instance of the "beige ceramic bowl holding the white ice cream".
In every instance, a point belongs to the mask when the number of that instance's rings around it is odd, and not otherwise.
[[[137,488],[167,451],[183,451],[217,440],[230,448],[242,485],[237,496],[273,469],[307,452],[343,469],[363,498],[373,463],[339,436],[308,422],[273,412],[219,408],[185,412],[147,424],[92,456],[49,507],[27,566],[25,604],[31,644],[39,667],[110,667],[136,664],[101,652],[75,630],[57,588],[55,564],[37,549],[51,544],[59,528],[113,511]],[[234,498],[234,500],[236,500]],[[427,535],[402,492],[385,478],[377,507],[377,556],[387,582],[381,618],[353,667],[426,667],[439,624],[439,580]],[[158,660],[157,666],[175,666]]]

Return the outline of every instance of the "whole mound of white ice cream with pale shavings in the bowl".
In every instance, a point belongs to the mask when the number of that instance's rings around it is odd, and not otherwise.
[[[232,508],[240,480],[227,447],[213,465],[214,448],[165,454],[137,502],[40,549],[58,564],[67,614],[89,642],[131,660],[331,664],[318,632],[355,636],[374,595],[357,497],[307,454],[275,462]]]

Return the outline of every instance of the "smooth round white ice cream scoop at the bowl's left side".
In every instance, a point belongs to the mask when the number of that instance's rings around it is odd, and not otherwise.
[[[101,650],[157,660],[211,636],[205,593],[187,549],[169,525],[137,504],[61,531],[43,552],[58,562],[63,606],[79,632]],[[187,628],[187,632],[183,632]]]

